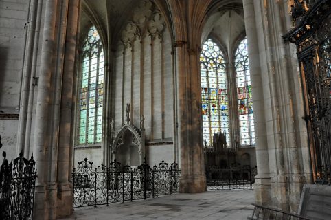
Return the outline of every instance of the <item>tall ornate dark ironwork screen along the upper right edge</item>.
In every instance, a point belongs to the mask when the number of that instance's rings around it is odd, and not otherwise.
[[[297,45],[313,177],[331,182],[331,1],[294,3],[284,39]]]

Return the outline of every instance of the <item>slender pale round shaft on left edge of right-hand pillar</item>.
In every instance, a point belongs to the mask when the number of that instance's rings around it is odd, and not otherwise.
[[[251,73],[252,98],[255,126],[255,151],[258,175],[255,177],[255,202],[265,204],[269,201],[270,171],[268,142],[266,138],[266,118],[264,115],[264,89],[262,69],[260,69],[260,51],[255,21],[253,0],[243,0],[244,21],[249,50],[249,68]]]

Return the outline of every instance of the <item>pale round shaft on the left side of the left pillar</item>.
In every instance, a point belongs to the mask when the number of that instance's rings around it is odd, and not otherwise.
[[[51,137],[49,135],[49,103],[51,76],[53,70],[54,47],[56,45],[56,15],[57,1],[50,0],[45,5],[45,17],[43,25],[42,49],[41,49],[41,67],[38,80],[38,93],[36,100],[36,120],[34,126],[34,158],[36,160],[36,169],[38,177],[36,179],[36,191],[34,199],[34,218],[49,218],[49,198],[48,193],[53,188],[48,186],[49,180],[49,151]],[[55,170],[54,170],[55,171]]]

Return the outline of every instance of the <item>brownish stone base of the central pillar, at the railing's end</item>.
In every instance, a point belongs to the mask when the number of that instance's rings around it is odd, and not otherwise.
[[[181,175],[179,183],[179,192],[181,193],[199,193],[205,192],[207,188],[205,175]]]

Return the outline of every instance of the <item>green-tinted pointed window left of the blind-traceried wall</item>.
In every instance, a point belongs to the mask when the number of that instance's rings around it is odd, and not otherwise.
[[[78,144],[95,144],[102,140],[104,98],[104,50],[93,26],[82,45],[79,90]]]

